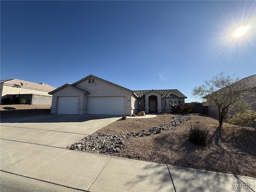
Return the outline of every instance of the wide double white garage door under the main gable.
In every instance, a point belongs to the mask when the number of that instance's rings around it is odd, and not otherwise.
[[[124,115],[125,97],[88,97],[87,114]]]

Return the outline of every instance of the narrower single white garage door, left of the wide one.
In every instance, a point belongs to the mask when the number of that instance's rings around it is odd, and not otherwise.
[[[58,97],[57,114],[77,114],[78,97]]]

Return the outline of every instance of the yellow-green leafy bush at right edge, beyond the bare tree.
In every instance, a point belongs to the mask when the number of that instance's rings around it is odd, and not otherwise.
[[[238,126],[256,127],[256,111],[247,110],[228,116],[228,123]]]

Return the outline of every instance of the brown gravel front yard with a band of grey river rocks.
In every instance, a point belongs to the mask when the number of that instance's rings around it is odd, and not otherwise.
[[[190,124],[210,131],[207,146],[188,140]],[[256,178],[256,129],[224,124],[200,114],[158,114],[118,120],[68,146],[72,150],[114,155]]]

